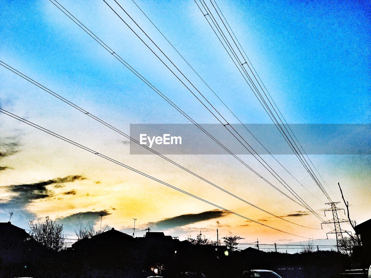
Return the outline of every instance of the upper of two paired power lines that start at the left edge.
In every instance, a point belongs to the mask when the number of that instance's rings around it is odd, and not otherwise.
[[[260,208],[259,206],[256,206],[256,205],[254,205],[254,204],[252,204],[252,203],[250,203],[250,202],[248,202],[248,201],[246,201],[246,200],[240,198],[239,196],[234,195],[233,193],[227,191],[226,189],[223,189],[223,188],[221,188],[220,186],[217,186],[216,184],[210,182],[209,180],[207,180],[207,179],[205,179],[205,178],[203,178],[203,177],[197,175],[196,173],[190,171],[189,169],[185,168],[184,166],[181,166],[180,164],[174,162],[174,161],[171,160],[170,158],[167,158],[166,156],[162,155],[161,153],[155,151],[154,149],[152,149],[152,148],[148,148],[148,146],[146,146],[146,145],[142,145],[138,140],[132,138],[131,136],[129,136],[128,134],[126,134],[126,133],[122,132],[121,130],[115,128],[114,126],[111,126],[109,123],[106,123],[104,120],[102,120],[102,119],[100,119],[100,118],[94,116],[92,113],[87,112],[87,111],[86,111],[85,109],[83,109],[82,107],[76,105],[75,103],[70,102],[68,99],[66,99],[66,98],[62,97],[61,95],[59,95],[59,94],[53,92],[52,90],[50,90],[50,89],[48,89],[47,87],[45,87],[45,86],[41,85],[40,83],[36,82],[35,80],[33,80],[32,78],[30,78],[29,76],[24,75],[22,72],[19,72],[18,70],[14,69],[13,67],[9,66],[8,64],[4,63],[4,62],[1,61],[1,60],[0,60],[0,65],[3,66],[3,67],[5,67],[6,69],[12,71],[13,73],[16,73],[17,75],[19,75],[19,76],[22,77],[23,79],[25,79],[25,80],[27,80],[28,82],[32,83],[33,85],[39,87],[40,89],[44,90],[45,92],[49,93],[50,95],[55,96],[56,98],[62,100],[63,102],[65,102],[65,103],[67,103],[68,105],[72,106],[73,108],[79,110],[80,112],[84,113],[85,115],[87,115],[87,116],[91,117],[92,119],[98,121],[99,123],[102,123],[103,125],[107,126],[108,128],[114,130],[115,132],[119,133],[120,135],[125,136],[125,137],[128,138],[129,140],[132,140],[134,143],[138,144],[139,146],[142,146],[143,148],[145,148],[145,149],[151,151],[152,153],[154,153],[154,154],[160,156],[161,158],[164,158],[164,159],[167,160],[168,162],[173,163],[175,166],[178,166],[179,168],[183,169],[184,171],[187,171],[188,173],[191,173],[192,175],[196,176],[197,178],[199,178],[199,179],[201,179],[201,180],[203,180],[203,181],[209,183],[210,185],[212,185],[212,186],[214,186],[214,187],[220,189],[221,191],[223,191],[223,192],[225,192],[225,193],[227,193],[227,194],[233,196],[234,198],[237,198],[237,199],[239,199],[240,201],[243,201],[243,202],[247,203],[248,205],[251,205],[251,206],[253,206],[254,208],[259,209],[260,211],[263,211],[263,212],[265,212],[265,213],[267,213],[267,214],[269,214],[269,215],[272,215],[272,216],[274,216],[274,217],[276,217],[276,218],[279,218],[279,219],[284,220],[284,221],[286,221],[286,222],[289,222],[289,223],[291,223],[291,224],[295,224],[295,225],[298,225],[298,226],[301,226],[301,227],[304,227],[304,228],[319,229],[319,228],[312,228],[312,227],[307,227],[307,226],[303,226],[303,225],[300,225],[300,224],[296,224],[295,222],[289,221],[289,220],[284,219],[284,218],[282,218],[282,217],[280,217],[280,216],[278,216],[278,215],[275,215],[275,214],[273,214],[273,213],[271,213],[271,212],[268,212],[268,211],[266,211],[265,209],[262,209],[262,208]],[[99,215],[99,216],[101,216],[101,215]]]

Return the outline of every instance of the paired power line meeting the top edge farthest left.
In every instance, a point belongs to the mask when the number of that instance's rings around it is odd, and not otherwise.
[[[190,118],[183,110],[181,110],[177,105],[175,105],[173,102],[171,102],[170,99],[168,99],[162,92],[160,92],[156,87],[154,87],[150,82],[148,82],[147,79],[145,79],[142,75],[140,75],[134,68],[132,68],[125,60],[123,60],[118,54],[116,54],[110,47],[107,46],[101,39],[99,39],[94,33],[92,33],[85,25],[83,25],[79,20],[76,19],[69,11],[67,11],[62,5],[60,5],[56,0],[54,0],[57,4],[55,4],[52,0],[50,0],[56,7],[58,7],[59,10],[61,10],[63,13],[65,13],[72,21],[74,21],[81,29],[83,29],[86,33],[89,34],[96,42],[98,42],[102,47],[104,47],[110,54],[112,54],[116,59],[119,60],[122,64],[124,64],[125,67],[127,67],[131,72],[133,72],[139,79],[141,79],[144,83],[146,83],[152,90],[154,90],[158,95],[160,95],[164,100],[166,100],[171,106],[173,106],[175,109],[178,110],[183,116],[185,116],[188,120],[190,120],[194,125],[196,125],[202,132],[204,132],[207,136],[209,136],[214,142],[216,142],[218,145],[220,145],[224,150],[226,150],[228,153],[234,156],[237,160],[239,160],[244,166],[246,166],[248,169],[250,169],[253,173],[255,173],[257,176],[263,179],[263,181],[267,182],[270,186],[278,190],[280,193],[288,197],[293,202],[297,203],[298,205],[301,205],[303,208],[308,209],[306,206],[302,205],[301,203],[295,201],[290,196],[288,196],[285,192],[281,191],[279,188],[277,188],[275,185],[273,185],[271,182],[267,181],[267,179],[263,178],[259,173],[257,173],[254,169],[252,169],[249,165],[247,165],[243,160],[241,160],[239,157],[234,155],[229,149],[227,149],[223,144],[221,144],[217,139],[215,139],[210,133],[208,133],[205,129],[203,129],[197,122],[195,122],[192,118]],[[73,17],[73,18],[72,18]],[[319,218],[320,219],[320,218]],[[320,219],[323,221],[323,219]]]

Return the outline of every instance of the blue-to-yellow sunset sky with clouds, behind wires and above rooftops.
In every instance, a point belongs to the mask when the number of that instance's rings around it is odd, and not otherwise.
[[[114,1],[107,2],[119,9]],[[243,123],[272,123],[194,1],[135,2]],[[198,123],[217,123],[104,1],[59,3]],[[210,103],[236,123],[134,2],[119,3]],[[288,123],[370,123],[370,4],[217,3]],[[2,1],[0,14],[0,60],[89,113],[125,133],[134,123],[189,123],[51,1]],[[127,138],[4,67],[0,84],[1,109],[255,221],[306,239],[326,239],[329,228],[320,229],[319,219],[232,156],[168,157],[260,208],[316,229],[273,218],[158,156],[131,155]],[[329,219],[323,212],[328,208],[325,196],[294,155],[275,157],[303,186],[273,158],[263,157],[313,210]],[[241,158],[272,180],[253,156]],[[352,219],[368,220],[370,155],[310,158],[331,198],[344,207],[340,182]],[[130,234],[135,218],[138,231],[149,226],[180,239],[202,231],[216,240],[218,229],[219,237],[239,235],[243,242],[304,240],[217,209],[4,114],[0,115],[0,201],[2,222],[9,221],[13,212],[12,223],[27,228],[29,220],[49,216],[63,223],[68,234],[79,223],[99,225],[103,214],[102,224]]]

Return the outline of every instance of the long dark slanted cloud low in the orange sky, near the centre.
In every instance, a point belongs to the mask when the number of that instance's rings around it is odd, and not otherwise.
[[[204,220],[220,218],[227,214],[229,214],[229,212],[214,209],[213,211],[204,211],[198,214],[183,214],[171,218],[165,218],[161,221],[150,222],[148,223],[148,225],[160,230],[165,230],[193,224]]]

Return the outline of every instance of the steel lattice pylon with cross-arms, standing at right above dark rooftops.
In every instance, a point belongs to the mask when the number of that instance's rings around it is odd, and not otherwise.
[[[341,246],[340,243],[344,242],[343,233],[346,233],[349,235],[351,234],[351,232],[341,229],[340,223],[349,222],[349,220],[339,218],[338,211],[341,211],[341,210],[344,211],[344,209],[338,208],[336,206],[338,203],[340,202],[326,203],[326,205],[330,205],[331,208],[325,210],[325,215],[326,215],[326,211],[332,211],[332,219],[322,222],[321,226],[322,224],[334,224],[335,229],[333,229],[331,232],[326,233],[326,236],[328,238],[328,234],[335,234],[336,235],[336,247],[338,248],[338,252],[348,254],[347,249],[344,248],[344,246]],[[344,211],[344,214],[345,214],[345,211]]]

